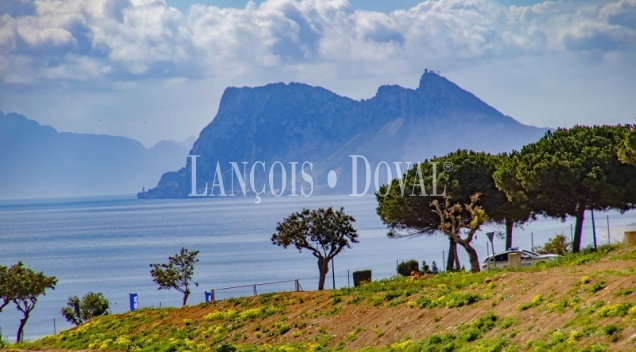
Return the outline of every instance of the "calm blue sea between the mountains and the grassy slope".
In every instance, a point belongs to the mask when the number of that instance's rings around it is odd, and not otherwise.
[[[0,264],[23,261],[27,266],[59,279],[57,288],[40,298],[26,326],[25,338],[34,339],[69,328],[59,314],[69,296],[102,292],[113,312],[128,309],[128,292],[139,295],[147,306],[178,306],[175,291],[158,291],[150,277],[150,263],[167,261],[181,247],[199,250],[194,289],[189,304],[204,300],[203,290],[300,279],[305,290],[317,288],[317,265],[308,252],[274,246],[271,235],[277,222],[303,207],[344,207],[356,218],[360,243],[334,261],[336,286],[348,284],[348,270],[372,269],[373,277],[394,275],[396,261],[417,259],[442,264],[447,240],[442,236],[394,240],[376,215],[373,196],[316,196],[310,198],[216,198],[187,200],[137,200],[132,197],[67,198],[0,201]],[[607,243],[609,216],[612,240],[630,224],[632,213],[597,213],[600,243]],[[585,243],[592,242],[587,214]],[[484,230],[487,231],[490,228]],[[570,221],[541,219],[515,230],[514,245],[530,248],[555,233],[568,235]],[[533,233],[533,236],[530,236]],[[486,236],[478,235],[475,246],[486,255]],[[503,250],[496,240],[497,251]],[[460,249],[460,252],[463,252]],[[463,253],[461,253],[464,256]],[[468,265],[464,256],[462,263]],[[332,286],[331,273],[327,287]],[[293,284],[263,286],[259,292],[290,290]],[[249,295],[252,288],[218,291],[217,297]],[[14,341],[19,312],[9,305],[0,313],[6,340]]]

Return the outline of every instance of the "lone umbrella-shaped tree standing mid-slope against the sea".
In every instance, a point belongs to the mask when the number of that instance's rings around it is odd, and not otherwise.
[[[334,211],[328,209],[303,209],[278,223],[272,243],[287,248],[294,246],[299,252],[309,250],[318,259],[318,289],[325,286],[325,277],[329,272],[329,261],[344,248],[358,243],[358,232],[353,228],[355,219],[347,215],[344,208]]]

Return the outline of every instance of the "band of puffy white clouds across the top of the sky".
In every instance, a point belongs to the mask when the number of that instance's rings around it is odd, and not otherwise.
[[[408,65],[543,53],[636,50],[636,0],[424,1],[388,14],[345,0],[268,0],[243,9],[163,0],[3,0],[0,82],[214,77]]]

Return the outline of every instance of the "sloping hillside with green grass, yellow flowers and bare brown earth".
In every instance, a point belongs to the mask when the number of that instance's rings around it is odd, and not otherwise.
[[[141,309],[4,349],[629,351],[634,303],[636,249],[606,246],[518,270]]]

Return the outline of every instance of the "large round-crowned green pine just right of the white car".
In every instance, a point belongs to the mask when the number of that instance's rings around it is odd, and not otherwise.
[[[636,206],[636,167],[618,159],[631,126],[575,126],[549,131],[513,152],[495,171],[497,185],[536,214],[576,218],[573,250],[581,247],[585,210]]]

